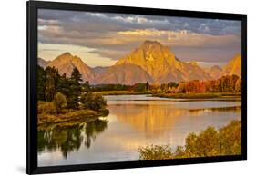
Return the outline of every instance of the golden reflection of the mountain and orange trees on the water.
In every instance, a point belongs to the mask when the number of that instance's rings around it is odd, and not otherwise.
[[[223,112],[241,112],[241,106],[187,109],[172,105],[122,104],[109,105],[109,110],[116,115],[118,122],[128,124],[133,129],[143,132],[147,137],[158,137],[173,129],[177,122],[191,118],[190,122],[202,120],[200,116],[221,114]],[[199,116],[199,118],[195,118]]]

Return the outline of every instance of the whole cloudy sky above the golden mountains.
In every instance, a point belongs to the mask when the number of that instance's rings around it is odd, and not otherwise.
[[[145,40],[183,62],[223,66],[241,53],[241,21],[38,10],[38,57],[47,61],[69,52],[91,67],[109,66]]]

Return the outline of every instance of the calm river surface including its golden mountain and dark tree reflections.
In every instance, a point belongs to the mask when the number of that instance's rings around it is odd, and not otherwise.
[[[109,114],[94,122],[38,133],[38,165],[138,160],[147,144],[184,145],[190,132],[241,119],[241,102],[105,96]]]

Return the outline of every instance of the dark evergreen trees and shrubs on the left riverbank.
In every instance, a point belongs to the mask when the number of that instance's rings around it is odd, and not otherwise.
[[[90,84],[82,82],[77,68],[70,77],[60,75],[56,68],[37,68],[38,124],[87,120],[107,116],[107,102],[91,92]]]

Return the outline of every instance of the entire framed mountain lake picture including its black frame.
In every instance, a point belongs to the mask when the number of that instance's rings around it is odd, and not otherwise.
[[[247,160],[246,15],[27,2],[27,173]]]

